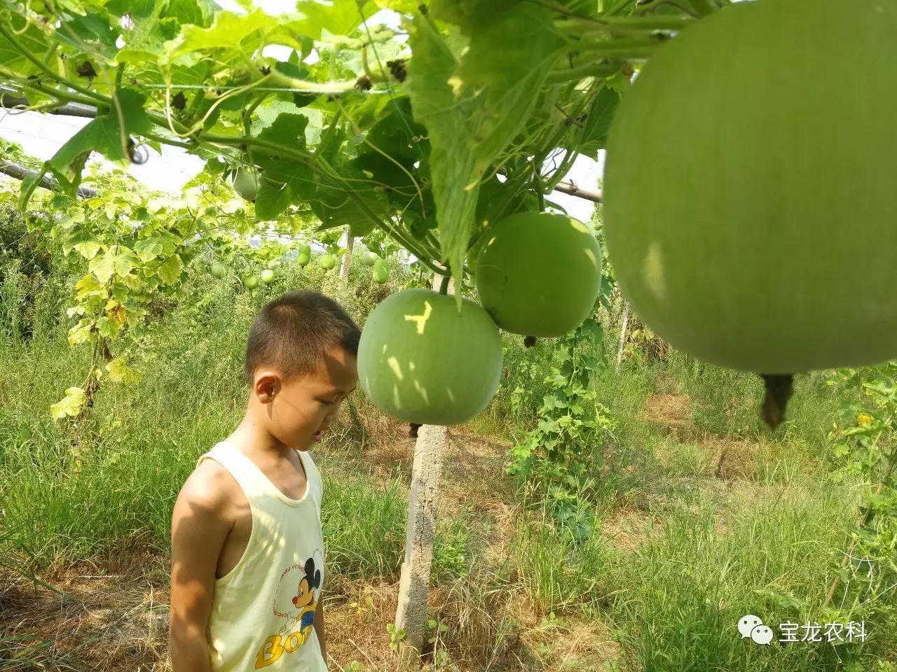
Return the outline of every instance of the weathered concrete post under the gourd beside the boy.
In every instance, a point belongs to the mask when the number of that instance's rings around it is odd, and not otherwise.
[[[439,290],[441,276],[433,280]],[[448,293],[454,292],[454,280],[448,282]],[[396,630],[405,630],[399,647],[400,659],[418,667],[423,635],[427,626],[427,598],[430,594],[430,567],[436,522],[439,518],[442,456],[448,430],[443,426],[423,425],[414,444],[414,466],[411,492],[408,496],[408,524],[405,530],[405,562],[399,581]]]

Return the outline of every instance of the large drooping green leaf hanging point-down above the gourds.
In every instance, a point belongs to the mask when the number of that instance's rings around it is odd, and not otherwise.
[[[468,39],[457,57],[436,26],[418,16],[409,26],[414,58],[407,90],[414,119],[431,142],[431,176],[442,261],[461,281],[474,226],[479,183],[520,132],[564,40],[548,9],[531,3],[492,11],[492,3],[434,4]]]

